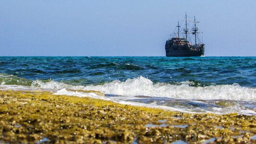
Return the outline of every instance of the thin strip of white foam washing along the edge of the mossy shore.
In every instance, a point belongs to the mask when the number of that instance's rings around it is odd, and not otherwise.
[[[112,102],[116,102],[123,105],[131,105],[131,106],[139,106],[139,107],[147,107],[147,108],[161,108],[165,110],[172,110],[172,111],[180,111],[180,112],[187,112],[187,113],[215,113],[215,114],[227,114],[227,113],[238,113],[238,114],[245,114],[245,115],[256,115],[254,110],[250,110],[244,108],[238,102],[235,105],[230,105],[228,107],[220,108],[214,107],[215,102],[206,102],[206,101],[191,101],[191,100],[183,100],[182,102],[185,105],[165,105],[165,102],[179,102],[173,99],[162,99],[160,100],[160,104],[157,101],[152,103],[144,103],[143,97],[135,97],[135,96],[98,96],[94,93],[84,93],[84,92],[76,92],[76,91],[67,91],[66,89],[58,90],[54,95],[66,95],[66,96],[79,96],[79,97],[91,97],[91,98],[98,98],[103,100],[110,100]],[[136,102],[137,101],[137,102]],[[190,107],[188,104],[190,102],[194,102],[197,104],[198,107]],[[163,105],[161,105],[161,103]],[[212,108],[204,108],[204,105],[212,105]],[[202,108],[200,107],[202,106]]]

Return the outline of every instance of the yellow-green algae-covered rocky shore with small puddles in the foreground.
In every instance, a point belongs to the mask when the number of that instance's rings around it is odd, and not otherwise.
[[[189,114],[5,90],[0,133],[0,143],[256,143],[256,116]]]

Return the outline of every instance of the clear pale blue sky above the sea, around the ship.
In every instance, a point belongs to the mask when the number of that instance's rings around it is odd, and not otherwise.
[[[206,56],[256,56],[256,0],[0,0],[0,56],[165,56],[185,12]]]

